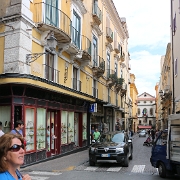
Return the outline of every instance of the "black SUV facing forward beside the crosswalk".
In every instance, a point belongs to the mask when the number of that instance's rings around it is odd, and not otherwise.
[[[132,139],[126,132],[107,132],[101,135],[99,141],[89,148],[89,165],[94,166],[99,161],[114,160],[129,166],[129,159],[133,158]]]

